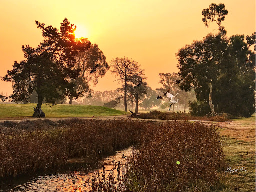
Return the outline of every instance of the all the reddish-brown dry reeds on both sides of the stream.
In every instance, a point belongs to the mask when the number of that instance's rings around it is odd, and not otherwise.
[[[127,162],[125,175],[117,181],[104,181],[104,172],[102,178],[94,175],[89,181],[93,191],[206,191],[216,187],[225,166],[219,133],[201,123],[73,119],[3,125],[0,177],[45,170],[73,157],[98,158],[99,151],[109,154],[132,144],[139,150]]]

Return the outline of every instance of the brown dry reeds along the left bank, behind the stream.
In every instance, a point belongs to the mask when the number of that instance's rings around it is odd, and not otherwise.
[[[0,177],[47,170],[68,158],[110,154],[136,144],[148,123],[131,120],[5,122],[0,129]]]

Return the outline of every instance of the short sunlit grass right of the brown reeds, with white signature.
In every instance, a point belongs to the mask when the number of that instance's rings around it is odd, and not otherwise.
[[[239,169],[226,173],[226,182],[232,191],[255,191],[255,116],[222,125],[221,135],[228,167]]]

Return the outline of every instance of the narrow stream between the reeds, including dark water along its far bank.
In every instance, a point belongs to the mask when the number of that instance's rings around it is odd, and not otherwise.
[[[118,161],[120,161],[121,170],[126,159],[131,155],[133,149],[128,148],[117,151],[115,155],[104,158],[100,164],[104,164],[106,177],[109,173],[117,177]],[[86,191],[89,184],[86,181],[98,177],[103,168],[96,169],[95,166],[87,166],[82,162],[71,161],[66,167],[54,170],[44,175],[33,175],[29,177],[16,177],[15,179],[5,179],[0,181],[0,191],[6,192],[42,192],[42,191]],[[102,175],[102,174],[101,174]],[[94,177],[93,177],[94,176]],[[86,183],[86,185],[84,185]]]

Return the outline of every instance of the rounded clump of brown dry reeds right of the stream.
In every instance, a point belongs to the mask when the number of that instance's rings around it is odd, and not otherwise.
[[[217,187],[225,162],[214,127],[166,122],[148,133],[127,163],[127,190],[211,191]]]

